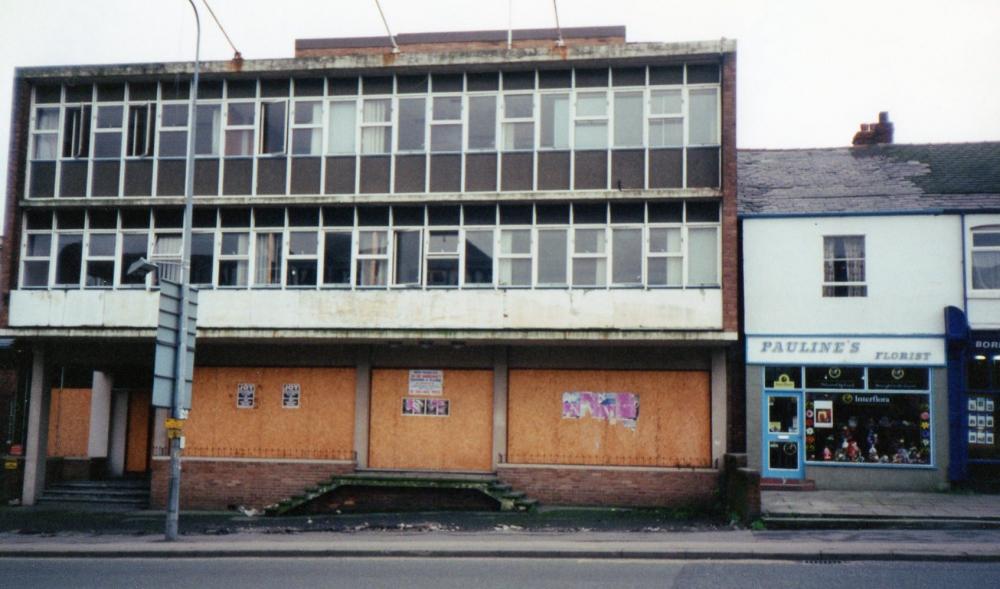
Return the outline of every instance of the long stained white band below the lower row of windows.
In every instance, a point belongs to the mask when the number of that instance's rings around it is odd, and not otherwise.
[[[156,324],[156,292],[19,290],[11,327]],[[199,328],[720,330],[722,291],[207,290]]]

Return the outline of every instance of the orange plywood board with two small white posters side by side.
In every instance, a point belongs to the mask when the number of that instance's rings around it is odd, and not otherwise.
[[[255,385],[255,405],[236,407],[241,383]],[[354,446],[353,368],[196,368],[186,456],[350,460]],[[298,384],[297,409],[282,388]]]

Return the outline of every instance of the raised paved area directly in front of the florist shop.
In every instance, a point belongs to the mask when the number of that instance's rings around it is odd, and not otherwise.
[[[1000,495],[894,491],[763,491],[768,528],[1000,528]]]

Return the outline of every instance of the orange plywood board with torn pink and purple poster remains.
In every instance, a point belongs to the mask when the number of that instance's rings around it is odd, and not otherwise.
[[[711,394],[706,371],[511,370],[507,461],[704,467],[711,464]],[[564,419],[563,393],[634,393],[635,428]]]

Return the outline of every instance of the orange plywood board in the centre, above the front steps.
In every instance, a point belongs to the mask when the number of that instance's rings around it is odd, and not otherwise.
[[[489,471],[493,467],[493,372],[445,370],[441,398],[447,417],[403,415],[408,370],[372,372],[372,468]]]

